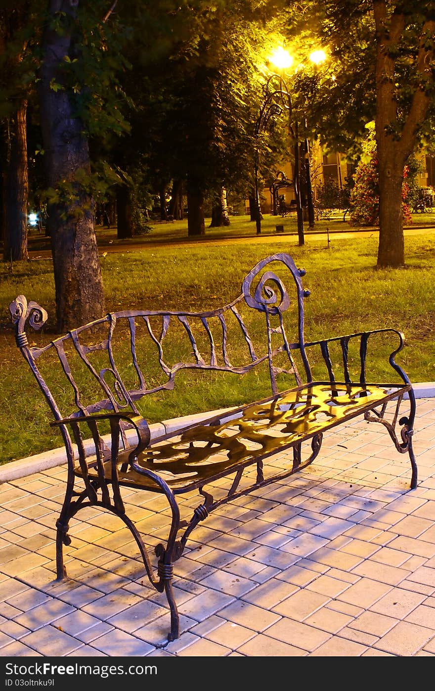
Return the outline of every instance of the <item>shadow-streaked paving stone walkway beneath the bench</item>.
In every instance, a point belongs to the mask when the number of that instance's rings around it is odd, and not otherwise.
[[[69,579],[57,582],[65,467],[1,484],[0,655],[434,655],[435,399],[418,399],[417,413],[417,489],[408,455],[357,420],[325,435],[305,472],[200,524],[175,564],[182,635],[166,645],[166,597],[119,518],[93,508],[71,520]],[[152,550],[165,500],[124,498]]]

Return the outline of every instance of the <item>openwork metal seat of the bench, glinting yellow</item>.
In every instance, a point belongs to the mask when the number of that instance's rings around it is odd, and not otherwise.
[[[137,456],[137,465],[158,473],[173,493],[197,489],[210,480],[236,472],[302,440],[319,435],[345,419],[364,414],[375,405],[404,395],[410,386],[378,386],[314,382],[293,388],[219,417],[202,420],[184,430],[157,437]],[[139,475],[128,463],[132,449],[117,457],[119,484],[161,491],[155,482]],[[104,462],[110,480],[112,462]],[[82,476],[81,468],[76,470]],[[95,463],[88,463],[88,477],[98,480]]]

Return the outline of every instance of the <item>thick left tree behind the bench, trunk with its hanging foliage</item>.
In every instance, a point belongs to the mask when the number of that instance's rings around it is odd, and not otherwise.
[[[79,0],[48,2],[39,100],[59,330],[105,312],[88,139],[123,124],[108,19],[110,10],[100,1],[92,7]]]

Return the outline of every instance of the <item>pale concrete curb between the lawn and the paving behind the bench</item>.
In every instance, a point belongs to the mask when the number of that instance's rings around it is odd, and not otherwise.
[[[413,384],[416,398],[435,398],[435,381],[420,382]],[[232,408],[219,408],[218,410],[210,410],[206,413],[198,413],[197,415],[184,415],[184,417],[175,417],[170,420],[163,420],[150,425],[151,439],[160,437],[161,435],[175,432],[176,430],[195,422],[213,417],[214,415],[224,415]],[[133,430],[131,430],[133,433]],[[128,435],[127,435],[128,436]],[[108,439],[104,439],[108,442]],[[92,442],[89,440],[84,442],[86,450],[92,448]],[[53,448],[51,451],[44,451],[35,456],[28,458],[21,458],[18,461],[11,461],[3,466],[0,466],[0,484],[3,482],[10,482],[10,480],[18,480],[20,477],[33,475],[46,471],[49,468],[55,468],[66,464],[65,448]]]

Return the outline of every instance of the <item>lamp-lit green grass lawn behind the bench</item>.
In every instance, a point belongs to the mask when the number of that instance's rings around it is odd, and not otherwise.
[[[418,214],[415,223],[422,221]],[[284,223],[284,229],[293,231],[290,225],[286,228],[287,222],[294,223],[296,232],[296,220],[265,218],[264,234],[267,228],[272,232],[276,223]],[[296,236],[275,233],[257,242],[255,229],[246,218],[231,217],[232,239],[227,237],[229,229],[213,229],[213,235],[221,238],[219,243],[199,241],[183,247],[180,240],[186,237],[186,222],[182,223],[178,229],[175,223],[156,224],[155,231],[139,238],[144,240],[144,249],[129,249],[126,243],[114,253],[102,250],[110,240],[112,245],[120,242],[115,239],[115,231],[99,229],[108,311],[131,307],[211,310],[240,293],[244,276],[261,258],[289,252],[296,265],[307,270],[303,279],[311,290],[305,303],[307,341],[374,328],[397,328],[405,333],[407,341],[398,363],[414,382],[435,380],[435,230],[405,236],[407,266],[381,270],[376,269],[377,234],[354,234],[349,238],[334,235],[329,247],[325,236],[307,235],[305,246],[299,247]],[[334,223],[327,224],[330,230]],[[338,222],[341,229],[343,225]],[[211,233],[209,229],[207,236]],[[248,234],[249,241],[237,238]],[[167,244],[151,244],[157,238],[166,238]],[[18,294],[45,307],[49,314],[46,328],[43,333],[29,332],[28,336],[38,345],[50,341],[55,315],[52,262],[39,259],[15,263],[12,269],[11,274],[7,263],[0,265],[1,463],[61,446],[61,437],[48,426],[51,417],[45,399],[14,345],[8,311]],[[380,357],[376,366],[375,375],[380,381],[385,377]],[[227,382],[220,384],[219,377],[215,377],[209,396],[204,390],[186,393],[176,384],[165,399],[150,406],[147,417],[157,422],[162,416],[175,417],[241,402],[234,399],[235,395]],[[249,390],[241,390],[241,398],[249,395]]]

